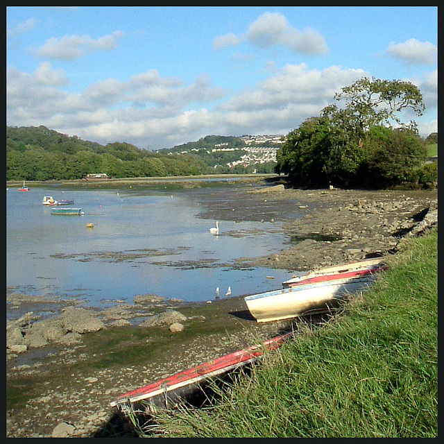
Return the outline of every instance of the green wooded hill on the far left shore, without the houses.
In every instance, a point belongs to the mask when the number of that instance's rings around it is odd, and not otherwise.
[[[91,173],[135,178],[214,172],[199,155],[155,153],[125,142],[102,146],[45,126],[6,127],[6,180],[71,180]]]

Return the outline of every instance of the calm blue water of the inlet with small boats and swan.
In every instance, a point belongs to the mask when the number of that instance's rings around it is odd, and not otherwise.
[[[280,288],[290,271],[240,268],[235,259],[278,253],[279,223],[214,221],[189,191],[6,191],[6,284],[10,292],[69,296],[112,305],[155,293],[187,301]],[[202,192],[202,191],[200,191]],[[55,216],[43,196],[72,198],[83,216]],[[94,223],[94,228],[87,228]],[[271,231],[271,233],[269,232]],[[273,276],[273,280],[269,277]]]

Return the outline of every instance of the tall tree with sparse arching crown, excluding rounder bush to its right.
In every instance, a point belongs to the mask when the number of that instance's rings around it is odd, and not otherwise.
[[[292,180],[306,185],[356,183],[362,165],[370,164],[375,154],[374,144],[366,143],[371,128],[387,126],[393,130],[391,125],[396,123],[418,133],[416,123],[405,125],[399,116],[406,108],[422,115],[425,106],[415,85],[362,78],[341,91],[334,96],[340,106],[328,105],[320,117],[307,119],[289,133],[278,151],[278,173],[287,173]]]

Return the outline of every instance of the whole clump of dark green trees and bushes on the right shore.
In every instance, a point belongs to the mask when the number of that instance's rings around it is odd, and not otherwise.
[[[339,105],[323,108],[287,135],[278,151],[278,173],[309,187],[436,186],[438,164],[425,162],[429,141],[420,137],[414,121],[403,124],[399,118],[407,108],[422,115],[418,87],[363,78],[335,99]],[[438,134],[431,136],[437,143]]]

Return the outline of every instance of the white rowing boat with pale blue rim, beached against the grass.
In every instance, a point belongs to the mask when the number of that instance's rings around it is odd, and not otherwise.
[[[373,284],[376,276],[342,276],[323,282],[311,282],[244,298],[257,322],[278,321],[335,309],[339,301]]]

